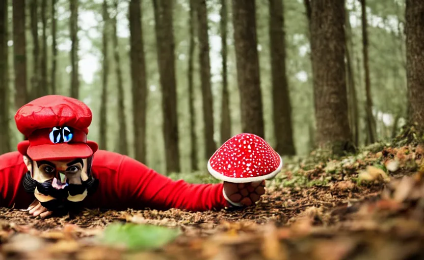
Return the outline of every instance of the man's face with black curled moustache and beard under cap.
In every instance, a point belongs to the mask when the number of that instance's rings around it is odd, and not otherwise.
[[[32,161],[24,157],[24,161],[33,179],[35,198],[50,211],[83,201],[93,188],[91,158]]]

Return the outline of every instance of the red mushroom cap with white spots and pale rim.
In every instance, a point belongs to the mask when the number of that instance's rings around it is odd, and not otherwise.
[[[265,140],[253,134],[233,136],[207,162],[211,175],[233,183],[271,179],[282,166],[280,155]]]

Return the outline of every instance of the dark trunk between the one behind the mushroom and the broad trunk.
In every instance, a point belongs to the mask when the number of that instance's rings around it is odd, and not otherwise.
[[[295,155],[293,142],[292,105],[285,69],[285,34],[282,0],[269,0],[269,34],[273,89],[273,119],[275,150],[281,155]]]

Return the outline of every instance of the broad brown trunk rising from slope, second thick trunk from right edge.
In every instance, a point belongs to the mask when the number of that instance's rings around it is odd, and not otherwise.
[[[345,1],[310,4],[316,144],[343,154],[352,149],[345,72]]]

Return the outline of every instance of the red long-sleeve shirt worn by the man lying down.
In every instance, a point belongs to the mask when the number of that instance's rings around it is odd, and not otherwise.
[[[25,192],[22,185],[26,172],[19,152],[0,155],[0,207],[28,208],[34,201],[34,194]],[[229,206],[222,194],[222,183],[173,181],[135,159],[114,152],[98,150],[91,172],[99,180],[99,186],[83,201],[87,208],[204,211]]]

